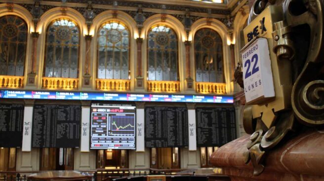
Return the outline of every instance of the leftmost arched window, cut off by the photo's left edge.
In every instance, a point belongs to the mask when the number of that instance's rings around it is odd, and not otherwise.
[[[24,76],[27,31],[20,17],[0,17],[0,75]]]

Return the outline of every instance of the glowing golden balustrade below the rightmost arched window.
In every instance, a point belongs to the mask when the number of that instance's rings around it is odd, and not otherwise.
[[[226,83],[197,82],[197,93],[226,94]]]

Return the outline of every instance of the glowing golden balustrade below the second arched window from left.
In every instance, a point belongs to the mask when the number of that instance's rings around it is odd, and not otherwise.
[[[79,79],[71,78],[42,78],[42,89],[63,89],[63,90],[78,90]]]

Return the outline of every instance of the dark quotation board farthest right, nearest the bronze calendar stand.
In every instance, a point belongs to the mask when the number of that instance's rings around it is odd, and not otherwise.
[[[235,108],[197,108],[197,147],[221,147],[236,139]]]

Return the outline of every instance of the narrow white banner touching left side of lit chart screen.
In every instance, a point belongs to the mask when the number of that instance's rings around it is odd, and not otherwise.
[[[89,150],[89,138],[90,138],[90,107],[82,106],[81,109],[81,152],[88,152]]]

